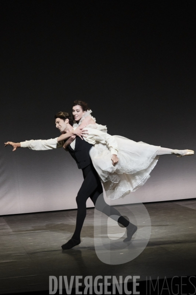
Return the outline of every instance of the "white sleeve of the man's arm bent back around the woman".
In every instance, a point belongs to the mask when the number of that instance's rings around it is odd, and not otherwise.
[[[87,129],[89,133],[87,137],[84,138],[88,143],[95,145],[96,141],[98,141],[102,144],[106,144],[111,154],[117,155],[119,149],[118,143],[112,135],[102,132],[96,128],[85,127],[85,129]]]

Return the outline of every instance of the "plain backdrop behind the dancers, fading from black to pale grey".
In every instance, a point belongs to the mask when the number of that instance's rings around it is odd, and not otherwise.
[[[82,173],[68,152],[3,148],[57,137],[54,114],[71,112],[75,99],[111,135],[196,149],[193,1],[6,1],[1,8],[1,215],[76,207]],[[122,203],[195,198],[195,191],[196,157],[162,156]]]

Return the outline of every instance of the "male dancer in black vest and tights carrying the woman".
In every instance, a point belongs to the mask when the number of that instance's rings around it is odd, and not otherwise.
[[[16,148],[20,148],[20,147],[30,148],[34,150],[46,150],[46,149],[52,149],[52,148],[60,148],[63,146],[64,148],[67,148],[67,150],[70,152],[73,159],[76,161],[78,168],[82,169],[84,181],[76,197],[76,203],[77,203],[76,227],[75,227],[75,231],[73,233],[72,238],[67,243],[61,246],[62,249],[63,250],[70,249],[80,244],[81,242],[80,232],[84,223],[84,219],[86,217],[86,201],[90,197],[95,205],[100,194],[101,194],[100,197],[102,198],[101,200],[102,202],[100,202],[101,205],[99,205],[99,207],[96,207],[96,208],[102,211],[103,213],[105,213],[107,216],[113,215],[113,218],[115,218],[114,216],[117,216],[116,221],[118,221],[124,227],[127,228],[127,237],[124,239],[124,241],[131,240],[131,237],[137,231],[137,226],[127,221],[117,209],[105,203],[103,194],[102,194],[103,192],[102,185],[89,155],[89,151],[92,148],[92,145],[86,142],[85,140],[82,140],[81,136],[75,137],[75,134],[73,131],[73,119],[69,113],[65,113],[65,112],[57,113],[55,115],[55,124],[61,133],[67,133],[67,134],[69,133],[67,142],[58,143],[57,141],[58,138],[55,138],[55,139],[49,139],[49,140],[30,140],[30,141],[25,141],[21,143],[7,142],[5,143],[5,146],[11,145],[13,147],[13,151],[16,150]],[[73,131],[73,135],[70,137],[70,134],[72,131]],[[80,134],[85,136],[86,132],[83,130],[81,131]],[[107,134],[106,137],[107,137],[107,141],[110,142],[111,150],[115,152],[115,148],[112,147],[112,141],[113,141],[112,136]],[[73,140],[75,140],[74,148],[70,146]],[[112,161],[114,165],[118,161],[118,158],[116,157],[115,154],[113,154],[112,156]]]

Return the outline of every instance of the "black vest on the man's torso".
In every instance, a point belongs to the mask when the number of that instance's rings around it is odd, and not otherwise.
[[[78,169],[83,169],[91,164],[89,151],[92,147],[93,145],[87,143],[84,139],[81,140],[78,136],[75,138],[75,149],[68,147],[68,151],[77,163]]]

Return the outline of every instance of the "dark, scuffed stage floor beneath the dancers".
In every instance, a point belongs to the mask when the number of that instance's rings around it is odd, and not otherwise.
[[[130,210],[132,206],[126,205]],[[73,234],[77,210],[1,216],[0,294],[48,290],[50,275],[68,280],[72,275],[137,275],[141,281],[195,275],[196,199],[146,203],[145,207],[151,219],[147,247],[121,265],[98,259],[94,208],[87,209],[81,244],[66,251],[61,245]]]

